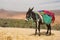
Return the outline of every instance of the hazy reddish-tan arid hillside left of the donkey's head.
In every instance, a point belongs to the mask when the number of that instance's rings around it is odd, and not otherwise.
[[[4,9],[0,10],[0,18],[9,19],[25,19],[26,12],[7,11]]]

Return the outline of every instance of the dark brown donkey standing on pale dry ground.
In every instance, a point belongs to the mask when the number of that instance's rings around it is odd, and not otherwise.
[[[37,34],[37,30],[38,30],[38,35],[40,36],[40,25],[42,24],[42,20],[41,20],[41,17],[38,14],[37,14],[37,17],[36,17],[36,13],[33,11],[33,9],[34,8],[32,8],[32,9],[29,8],[28,9],[28,11],[26,13],[26,21],[28,21],[31,18],[33,19],[33,21],[36,24],[35,35]],[[47,26],[46,35],[51,35],[51,24],[46,24],[46,26]]]

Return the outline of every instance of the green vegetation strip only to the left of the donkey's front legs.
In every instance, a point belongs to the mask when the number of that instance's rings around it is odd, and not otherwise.
[[[0,19],[1,27],[22,27],[22,28],[33,28],[33,21],[26,22],[20,19]]]

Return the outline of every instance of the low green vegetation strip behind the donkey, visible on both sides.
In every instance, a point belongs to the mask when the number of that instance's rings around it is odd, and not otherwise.
[[[1,27],[19,27],[19,28],[35,28],[35,23],[30,20],[26,22],[21,19],[0,19]],[[45,25],[41,25],[42,29],[46,29]],[[60,30],[60,25],[56,24],[52,27],[52,29]]]

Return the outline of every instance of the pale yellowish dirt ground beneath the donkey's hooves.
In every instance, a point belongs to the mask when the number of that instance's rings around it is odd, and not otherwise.
[[[52,30],[51,36],[46,36],[46,30],[41,29],[41,36],[34,35],[35,29],[30,28],[2,28],[0,40],[60,40],[60,31]]]

